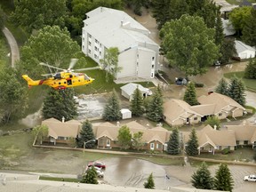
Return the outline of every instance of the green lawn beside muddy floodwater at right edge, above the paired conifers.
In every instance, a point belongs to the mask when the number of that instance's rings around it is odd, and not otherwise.
[[[225,77],[227,78],[232,78],[232,77],[237,77],[241,78],[242,81],[245,84],[245,87],[247,90],[256,92],[256,79],[246,79],[244,78],[244,71],[239,71],[239,72],[231,72],[231,73],[226,73],[224,74]]]

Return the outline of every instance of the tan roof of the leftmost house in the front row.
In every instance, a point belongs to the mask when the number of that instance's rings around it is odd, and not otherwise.
[[[45,124],[49,128],[48,136],[51,136],[54,139],[58,137],[73,137],[79,134],[81,123],[78,121],[68,121],[60,122],[57,119],[50,118],[42,121],[42,124]]]

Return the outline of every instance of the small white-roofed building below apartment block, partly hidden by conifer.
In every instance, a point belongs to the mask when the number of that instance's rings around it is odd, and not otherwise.
[[[121,87],[121,94],[127,98],[129,101],[132,100],[132,94],[136,89],[139,89],[140,92],[142,93],[143,98],[146,98],[148,96],[148,88],[143,87],[141,84],[125,84],[124,86]]]

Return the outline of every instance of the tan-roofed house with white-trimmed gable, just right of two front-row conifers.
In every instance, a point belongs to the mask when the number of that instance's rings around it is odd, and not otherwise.
[[[181,132],[183,143],[186,146],[188,143],[190,132]],[[212,126],[206,125],[202,130],[196,131],[198,139],[198,155],[201,152],[210,152],[214,155],[215,152],[221,151],[224,148],[235,150],[236,135],[233,131],[216,130]]]

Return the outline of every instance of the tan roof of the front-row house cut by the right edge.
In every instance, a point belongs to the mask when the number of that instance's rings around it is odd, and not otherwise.
[[[235,132],[236,140],[256,141],[256,125],[227,125],[228,130]]]

